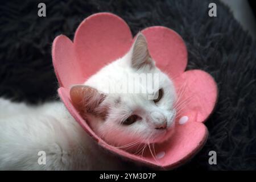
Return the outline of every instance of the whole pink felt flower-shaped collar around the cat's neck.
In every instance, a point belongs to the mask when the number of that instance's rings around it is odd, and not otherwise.
[[[77,28],[73,42],[64,35],[55,38],[52,59],[60,84],[58,93],[76,121],[106,150],[153,167],[175,168],[195,155],[207,140],[208,130],[203,122],[216,103],[217,86],[204,71],[185,71],[187,49],[175,31],[154,26],[145,28],[142,33],[146,36],[150,55],[156,65],[174,80],[177,93],[182,90],[179,102],[189,100],[176,118],[174,136],[168,142],[155,146],[155,158],[150,151],[140,156],[110,146],[90,129],[69,97],[71,85],[82,84],[106,63],[129,51],[133,36],[126,22],[119,16],[110,13],[93,14]]]

